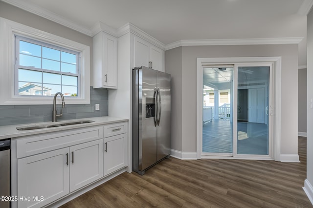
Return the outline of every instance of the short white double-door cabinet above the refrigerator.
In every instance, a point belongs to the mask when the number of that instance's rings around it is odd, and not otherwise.
[[[146,66],[164,72],[164,51],[135,36],[134,67],[140,66]]]

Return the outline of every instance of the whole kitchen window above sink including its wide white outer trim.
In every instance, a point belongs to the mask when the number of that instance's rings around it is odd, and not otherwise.
[[[90,103],[90,48],[0,18],[0,105]]]

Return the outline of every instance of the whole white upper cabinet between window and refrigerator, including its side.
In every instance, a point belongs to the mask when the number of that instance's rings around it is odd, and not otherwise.
[[[117,89],[117,38],[99,32],[92,39],[93,88]]]

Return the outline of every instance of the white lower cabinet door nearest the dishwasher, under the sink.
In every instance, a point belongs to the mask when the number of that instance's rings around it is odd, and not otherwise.
[[[30,197],[18,207],[43,207],[69,193],[67,156],[63,148],[18,159],[18,197]]]

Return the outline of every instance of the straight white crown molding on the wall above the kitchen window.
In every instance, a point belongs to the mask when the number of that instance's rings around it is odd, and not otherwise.
[[[50,12],[46,9],[43,9],[42,7],[36,6],[33,3],[29,3],[28,1],[23,1],[23,0],[2,0],[2,1],[4,1],[8,4],[11,4],[13,6],[16,6],[18,8],[21,8],[23,10],[26,10],[30,13],[35,14],[35,15],[38,15],[40,17],[43,17],[47,20],[57,22],[61,25],[64,25],[68,28],[71,28],[73,30],[81,32],[85,35],[92,36],[89,28],[78,25],[75,22],[68,21],[63,17],[61,17],[61,16],[59,16],[53,12]]]

